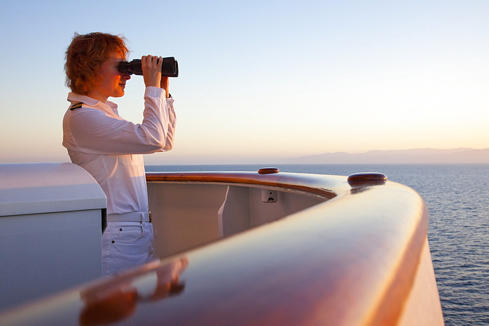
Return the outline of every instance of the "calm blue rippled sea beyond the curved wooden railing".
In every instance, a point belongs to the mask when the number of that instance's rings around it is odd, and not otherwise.
[[[489,324],[489,164],[152,165],[147,171],[381,172],[418,191],[446,325]]]

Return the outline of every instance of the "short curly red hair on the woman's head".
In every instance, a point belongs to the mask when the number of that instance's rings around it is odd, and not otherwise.
[[[66,50],[66,85],[72,92],[87,95],[88,89],[100,82],[98,70],[112,54],[127,60],[129,50],[123,36],[107,33],[75,33]]]

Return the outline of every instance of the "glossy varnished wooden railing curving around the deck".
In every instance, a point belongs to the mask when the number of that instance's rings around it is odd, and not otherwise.
[[[7,312],[0,324],[67,316],[82,324],[443,324],[418,193],[380,174],[269,172],[158,172],[147,180],[277,188],[325,201]]]

